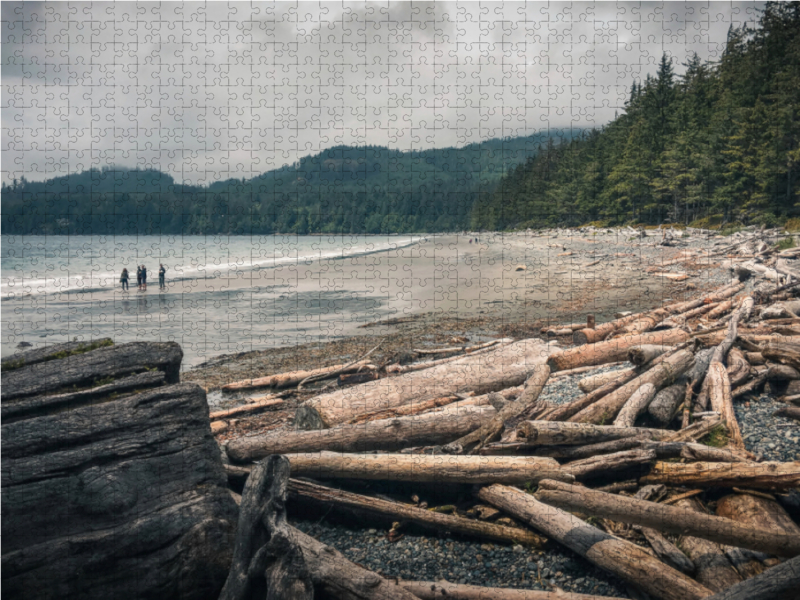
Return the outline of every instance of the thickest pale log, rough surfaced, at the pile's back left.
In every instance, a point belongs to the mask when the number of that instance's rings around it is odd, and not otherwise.
[[[301,429],[324,429],[361,414],[413,405],[429,398],[469,391],[485,394],[520,385],[550,352],[551,348],[541,340],[522,340],[425,371],[322,394],[297,409],[295,423]]]

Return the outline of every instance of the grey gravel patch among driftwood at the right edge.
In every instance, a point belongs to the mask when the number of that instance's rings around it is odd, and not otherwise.
[[[800,423],[786,417],[773,417],[786,406],[768,394],[745,402],[734,402],[733,409],[750,452],[763,460],[800,460]]]

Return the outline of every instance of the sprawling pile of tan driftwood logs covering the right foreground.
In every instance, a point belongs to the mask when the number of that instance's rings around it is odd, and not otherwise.
[[[293,430],[230,441],[229,480],[246,484],[222,597],[555,597],[388,581],[289,526],[287,498],[382,515],[395,522],[390,540],[413,523],[561,544],[652,598],[796,597],[800,462],[748,452],[733,406],[769,386],[787,403],[779,412],[798,417],[800,252],[749,242],[722,249],[746,283],[553,328],[572,335],[568,349],[503,340],[477,356],[384,372],[306,401]],[[623,361],[633,366],[592,373]],[[577,400],[541,399],[549,382],[579,372]],[[337,489],[358,480],[469,484],[474,502],[429,508],[416,496],[408,504]]]

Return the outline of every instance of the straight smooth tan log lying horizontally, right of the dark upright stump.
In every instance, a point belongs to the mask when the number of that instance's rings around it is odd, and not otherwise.
[[[437,483],[522,484],[540,479],[573,481],[552,458],[430,454],[287,454],[292,474],[313,479],[377,479]]]

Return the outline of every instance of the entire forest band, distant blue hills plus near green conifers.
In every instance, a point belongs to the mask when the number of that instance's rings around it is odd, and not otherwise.
[[[800,216],[800,3],[731,29],[715,62],[663,56],[624,110],[463,148],[338,146],[252,179],[92,169],[2,189],[8,234],[405,233]]]

